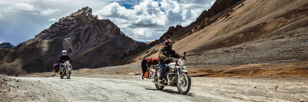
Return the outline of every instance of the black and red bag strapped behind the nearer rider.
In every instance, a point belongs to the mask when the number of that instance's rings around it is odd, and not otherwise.
[[[145,58],[141,60],[141,69],[143,73],[142,79],[143,77],[150,78],[150,75],[149,75],[150,65],[156,65],[156,64],[158,64],[158,58]]]

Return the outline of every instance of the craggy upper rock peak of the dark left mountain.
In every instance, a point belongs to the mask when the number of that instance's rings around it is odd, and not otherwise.
[[[67,17],[59,19],[59,22],[55,22],[35,37],[43,40],[61,39],[62,37],[72,36],[79,32],[85,36],[86,33],[89,33],[89,29],[95,30],[92,33],[97,32],[95,36],[100,37],[100,39],[107,39],[108,35],[123,34],[120,28],[109,19],[99,20],[97,15],[92,15],[91,8],[84,7]]]

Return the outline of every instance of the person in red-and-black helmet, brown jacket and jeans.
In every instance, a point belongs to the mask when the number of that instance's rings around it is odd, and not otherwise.
[[[166,50],[167,53],[164,54],[163,51]],[[168,54],[168,55],[167,55]],[[160,72],[160,77],[158,79],[158,82],[162,81],[162,78],[165,75],[166,69],[168,68],[168,64],[173,62],[173,60],[167,60],[169,59],[167,56],[171,55],[170,57],[173,58],[183,58],[184,60],[186,60],[186,58],[181,55],[176,53],[174,50],[172,50],[172,41],[171,40],[166,40],[164,43],[164,46],[162,48],[160,48],[160,50],[158,51],[158,64],[160,66],[161,72]]]

